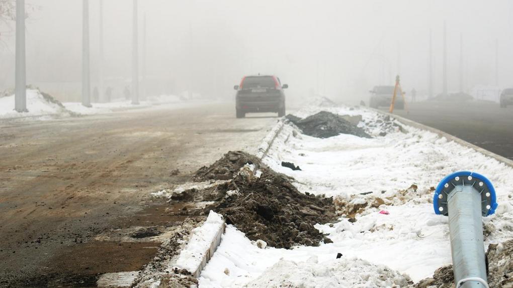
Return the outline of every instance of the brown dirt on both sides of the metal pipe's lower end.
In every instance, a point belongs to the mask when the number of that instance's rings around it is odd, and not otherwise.
[[[513,240],[490,244],[488,252],[486,252],[486,260],[488,285],[490,287],[513,287]],[[432,278],[420,281],[415,287],[452,288],[454,285],[452,265],[448,265],[437,269]]]

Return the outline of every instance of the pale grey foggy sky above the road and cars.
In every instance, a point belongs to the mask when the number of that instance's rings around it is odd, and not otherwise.
[[[97,86],[99,1],[90,0],[92,87]],[[82,1],[27,0],[27,83],[61,100],[80,99]],[[429,31],[433,84],[442,85],[443,22],[448,87],[459,90],[460,33],[464,90],[513,85],[513,2],[140,0],[149,94],[199,93],[232,98],[246,74],[275,74],[288,97],[321,94],[356,100],[400,74],[406,91],[428,85]],[[132,2],[104,0],[105,86],[130,85]],[[14,28],[14,24],[12,24]],[[2,24],[0,90],[14,86],[14,37]],[[143,63],[140,65],[143,70]]]

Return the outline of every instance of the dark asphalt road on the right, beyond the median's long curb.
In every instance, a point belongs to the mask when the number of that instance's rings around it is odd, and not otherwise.
[[[467,142],[513,159],[513,106],[471,101],[423,101],[408,104],[394,114],[437,128]]]

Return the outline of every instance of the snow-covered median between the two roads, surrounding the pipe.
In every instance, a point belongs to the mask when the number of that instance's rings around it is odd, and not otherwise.
[[[362,115],[360,126],[374,138],[318,139],[285,125],[264,162],[292,176],[300,191],[333,196],[341,213],[356,204],[367,207],[354,223],[341,215],[335,223],[317,225],[333,240],[320,247],[260,249],[228,226],[200,287],[392,287],[430,277],[451,263],[447,217],[433,212],[433,187],[461,170],[487,176],[496,188],[499,208],[483,220],[485,246],[513,238],[511,167],[429,131],[385,127],[383,115],[365,108],[308,108],[295,115],[320,110]],[[387,134],[379,136],[384,129]],[[282,167],[282,161],[302,171]]]

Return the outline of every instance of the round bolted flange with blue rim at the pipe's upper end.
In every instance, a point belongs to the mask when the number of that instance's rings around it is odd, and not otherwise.
[[[495,213],[499,205],[497,204],[495,188],[491,185],[491,182],[481,174],[460,171],[446,176],[440,184],[438,184],[435,196],[433,197],[433,208],[436,214],[448,215],[447,200],[449,194],[459,185],[472,186],[481,193],[483,216]]]

